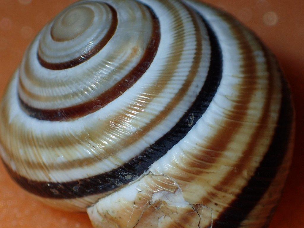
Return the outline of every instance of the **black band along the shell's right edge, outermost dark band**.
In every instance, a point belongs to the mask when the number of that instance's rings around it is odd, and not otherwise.
[[[213,228],[240,227],[240,223],[263,198],[282,165],[288,151],[293,119],[290,91],[284,78],[282,85],[281,111],[268,152],[240,194],[213,222]]]

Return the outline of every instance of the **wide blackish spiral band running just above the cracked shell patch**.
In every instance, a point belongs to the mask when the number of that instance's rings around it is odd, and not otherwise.
[[[109,172],[63,183],[32,181],[19,175],[5,164],[5,167],[12,178],[14,178],[22,188],[35,195],[39,195],[40,197],[50,199],[74,199],[77,197],[110,192],[122,185],[134,181],[134,178],[147,171],[151,164],[164,156],[168,150],[185,137],[207,110],[217,92],[222,79],[222,52],[214,32],[207,23],[206,27],[211,43],[211,62],[206,81],[201,91],[197,95],[192,106],[185,112],[178,123],[154,144],[144,149],[140,155]],[[189,119],[191,118],[193,118],[193,123],[192,125],[189,125]],[[132,176],[133,178],[127,178],[127,176]]]

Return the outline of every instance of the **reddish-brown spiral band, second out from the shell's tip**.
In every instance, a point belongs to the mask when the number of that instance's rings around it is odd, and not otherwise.
[[[150,64],[154,60],[158,50],[161,37],[160,22],[152,9],[149,9],[149,11],[153,20],[153,30],[147,49],[145,50],[140,62],[132,69],[132,71],[112,86],[112,88],[88,102],[62,109],[37,109],[28,105],[19,96],[20,105],[24,111],[29,116],[40,120],[70,121],[96,112],[122,95],[127,89],[133,86],[141,76],[143,76],[150,67]]]

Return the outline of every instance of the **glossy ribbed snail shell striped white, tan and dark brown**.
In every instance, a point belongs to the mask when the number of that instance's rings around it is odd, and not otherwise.
[[[190,0],[71,5],[26,51],[0,126],[21,187],[128,228],[267,226],[294,131],[275,57]]]

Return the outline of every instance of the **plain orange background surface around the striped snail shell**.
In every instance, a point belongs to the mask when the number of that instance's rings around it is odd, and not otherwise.
[[[75,0],[0,0],[0,96],[36,33]],[[271,228],[304,227],[304,0],[206,0],[254,30],[277,55],[296,109],[295,151]],[[1,127],[1,126],[0,126]],[[51,209],[29,196],[0,164],[0,228],[92,227],[86,214]]]

